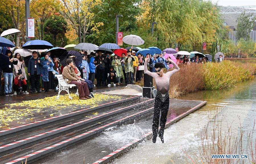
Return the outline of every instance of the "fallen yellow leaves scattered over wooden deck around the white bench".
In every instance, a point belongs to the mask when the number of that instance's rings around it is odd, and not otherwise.
[[[57,96],[51,96],[36,100],[22,101],[19,103],[5,104],[5,108],[0,109],[0,128],[7,128],[10,122],[23,119],[24,117],[26,117],[26,120],[36,121],[35,117],[33,117],[34,115],[36,115],[36,113],[37,115],[39,115],[39,113],[43,115],[43,113],[41,112],[55,112],[51,113],[48,116],[52,117],[56,114],[61,115],[60,110],[64,110],[66,108],[68,108],[67,110],[71,112],[71,110],[77,110],[78,106],[81,106],[79,108],[85,108],[86,106],[90,106],[91,108],[93,108],[98,106],[99,104],[102,104],[102,102],[104,101],[112,102],[121,98],[121,96],[96,93],[94,94],[95,98],[91,98],[88,100],[79,100],[79,97],[77,95],[70,95],[71,97],[73,97],[72,100],[70,100],[69,96],[65,94],[60,95],[60,98],[58,100],[56,99]],[[98,112],[93,114],[97,115]],[[24,119],[22,121],[24,121]],[[24,122],[17,121],[17,123],[22,124]]]

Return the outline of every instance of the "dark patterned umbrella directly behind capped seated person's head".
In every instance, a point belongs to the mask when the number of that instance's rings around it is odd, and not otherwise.
[[[59,60],[60,60],[61,65],[63,65],[63,67],[67,66],[66,60],[67,60],[68,56],[75,56],[76,57],[75,60],[74,60],[75,66],[78,67],[80,64],[82,64],[82,55],[77,51],[70,50],[70,51],[64,52],[60,56]]]

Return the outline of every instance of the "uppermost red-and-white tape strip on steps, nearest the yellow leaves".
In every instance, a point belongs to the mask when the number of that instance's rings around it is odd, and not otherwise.
[[[134,97],[138,97],[138,96],[134,96]],[[134,98],[134,97],[129,97],[129,98],[125,98],[125,99],[113,101],[113,102],[107,102],[107,103],[104,103],[104,104],[100,104],[100,105],[98,105],[98,106],[103,106],[103,105],[111,104],[111,103],[114,103],[114,102],[119,102],[119,101],[122,101],[122,100],[127,100],[127,99]],[[6,132],[6,131],[10,131],[10,130],[13,130],[13,129],[17,129],[17,128],[20,128],[20,127],[25,127],[25,126],[28,126],[28,125],[40,123],[40,122],[47,121],[47,120],[50,120],[50,119],[54,119],[54,118],[58,118],[58,117],[63,117],[63,116],[65,116],[65,115],[69,115],[69,114],[73,114],[73,113],[82,112],[82,111],[85,111],[85,110],[88,110],[88,109],[91,109],[91,107],[90,107],[90,108],[86,108],[86,109],[82,109],[82,110],[77,110],[77,111],[74,111],[74,112],[71,112],[71,113],[67,113],[67,114],[58,115],[58,116],[55,116],[55,117],[43,119],[43,120],[40,120],[40,121],[36,121],[36,122],[24,124],[24,125],[19,125],[19,126],[10,128],[10,129],[4,129],[4,130],[0,131],[0,133]]]

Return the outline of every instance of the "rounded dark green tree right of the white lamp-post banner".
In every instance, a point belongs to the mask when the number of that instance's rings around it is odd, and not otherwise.
[[[48,18],[43,27],[44,38],[54,47],[64,47],[67,45],[65,33],[67,31],[67,22],[60,16],[54,15]]]

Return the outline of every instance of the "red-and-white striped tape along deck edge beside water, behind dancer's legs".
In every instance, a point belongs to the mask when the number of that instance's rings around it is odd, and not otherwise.
[[[205,102],[206,102],[206,101],[203,101],[203,102],[201,102],[200,104],[198,104],[197,106],[194,106],[193,108],[191,108],[190,110],[188,110],[187,112],[184,112],[184,113],[178,115],[177,117],[175,117],[175,118],[173,118],[173,119],[167,121],[167,122],[165,123],[165,125],[168,125],[169,123],[172,123],[172,122],[173,122],[174,120],[176,120],[177,118],[182,117],[184,114],[189,113],[191,110],[194,110],[195,108],[199,107],[200,105],[204,104]],[[160,128],[161,128],[161,127],[158,127],[158,129],[160,129]],[[148,135],[150,135],[150,134],[152,134],[152,131],[150,131],[150,132],[144,134],[144,135],[143,135],[143,138],[142,138],[141,140],[143,140],[146,136],[148,136]],[[121,147],[121,148],[115,150],[114,152],[110,153],[109,155],[106,155],[106,156],[103,157],[102,159],[99,159],[98,161],[96,161],[96,162],[94,162],[94,163],[92,163],[92,164],[101,163],[102,161],[105,161],[106,159],[112,157],[113,155],[117,154],[118,152],[122,151],[123,149],[128,148],[129,146],[131,146],[132,144],[134,144],[134,143],[136,143],[136,142],[138,142],[138,141],[140,141],[140,140],[133,140],[133,141],[130,142],[129,144],[127,144],[127,145],[125,145],[125,146],[123,146],[123,147]]]

